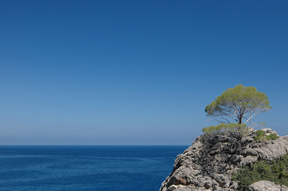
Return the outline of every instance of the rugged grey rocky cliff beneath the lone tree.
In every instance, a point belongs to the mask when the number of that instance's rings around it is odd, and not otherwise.
[[[275,133],[263,129],[266,135]],[[255,141],[256,133],[249,128],[240,140],[240,146],[228,139],[211,139],[205,134],[195,139],[183,154],[177,156],[173,171],[162,183],[160,191],[234,191],[238,184],[231,180],[237,169],[251,166],[257,160],[272,161],[288,153],[288,136],[276,140]],[[278,190],[288,191],[284,185],[270,181],[259,181],[247,191]]]

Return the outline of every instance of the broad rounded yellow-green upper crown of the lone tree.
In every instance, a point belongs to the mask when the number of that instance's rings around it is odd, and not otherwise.
[[[205,112],[218,122],[231,123],[230,120],[233,119],[238,124],[245,124],[251,122],[256,114],[267,112],[271,108],[265,93],[257,91],[253,86],[239,84],[219,95],[206,106]]]

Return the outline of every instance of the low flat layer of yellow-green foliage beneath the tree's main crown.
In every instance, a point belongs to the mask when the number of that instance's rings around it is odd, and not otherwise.
[[[209,127],[204,127],[202,131],[207,134],[213,134],[213,135],[218,135],[223,132],[243,132],[246,129],[245,124],[238,124],[238,123],[221,123],[216,126],[209,126]]]

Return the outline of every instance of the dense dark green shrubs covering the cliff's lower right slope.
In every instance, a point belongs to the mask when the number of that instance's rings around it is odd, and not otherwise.
[[[232,180],[238,182],[240,190],[245,190],[247,186],[260,180],[269,180],[288,186],[288,154],[273,160],[271,164],[267,161],[257,161],[251,168],[239,169],[232,176]]]

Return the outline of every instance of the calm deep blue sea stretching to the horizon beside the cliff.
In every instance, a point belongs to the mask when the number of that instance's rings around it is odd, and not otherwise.
[[[188,146],[0,146],[0,190],[159,190]]]

